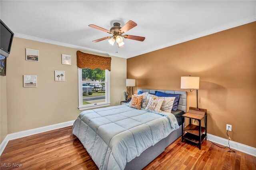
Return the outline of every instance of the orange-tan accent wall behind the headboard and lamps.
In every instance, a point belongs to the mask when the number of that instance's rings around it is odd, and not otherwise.
[[[132,57],[127,78],[136,88],[181,90],[180,77],[200,76],[199,107],[208,133],[256,147],[256,22]],[[196,92],[188,90],[188,106]]]

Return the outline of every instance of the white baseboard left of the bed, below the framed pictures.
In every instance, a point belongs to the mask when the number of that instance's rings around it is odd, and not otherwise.
[[[42,132],[47,132],[47,131],[55,130],[58,128],[68,127],[68,126],[72,126],[73,124],[74,124],[74,121],[68,121],[68,122],[58,123],[58,124],[54,124],[54,125],[49,125],[46,127],[33,128],[30,130],[24,130],[21,132],[7,134],[6,137],[4,138],[3,142],[0,145],[0,155],[4,151],[4,148],[8,144],[9,140],[22,138],[25,136],[30,136],[30,135],[38,134],[38,133],[42,133]]]

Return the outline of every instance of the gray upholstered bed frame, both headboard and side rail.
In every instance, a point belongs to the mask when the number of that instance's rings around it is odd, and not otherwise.
[[[186,91],[152,90],[152,89],[138,89],[137,91],[149,92],[149,93],[155,93],[155,91],[161,91],[163,93],[181,94],[178,109],[186,113],[186,103],[187,103]],[[154,146],[150,146],[149,148],[144,150],[140,154],[140,156],[134,158],[130,162],[127,162],[124,169],[125,170],[141,170],[142,168],[147,166],[150,162],[152,162],[156,157],[158,157],[162,152],[164,152],[165,148],[167,148],[167,146],[169,146],[172,142],[174,142],[180,136],[181,136],[181,125],[178,129],[171,132],[166,138],[163,138],[162,140],[157,142]]]

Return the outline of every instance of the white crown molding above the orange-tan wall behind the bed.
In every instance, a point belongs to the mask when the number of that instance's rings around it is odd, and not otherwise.
[[[176,45],[176,44],[179,44],[179,43],[183,43],[183,42],[187,42],[187,41],[190,41],[190,40],[194,40],[196,38],[200,38],[200,37],[204,37],[204,36],[208,36],[210,34],[214,34],[214,33],[217,33],[217,32],[221,32],[221,31],[224,31],[224,30],[228,30],[230,28],[234,28],[234,27],[238,27],[238,26],[242,26],[244,24],[249,24],[251,22],[255,22],[256,21],[256,16],[251,16],[251,17],[248,17],[248,18],[244,18],[242,20],[238,20],[236,22],[232,22],[232,23],[229,23],[229,24],[225,24],[223,26],[220,26],[220,27],[217,27],[217,28],[213,28],[211,30],[207,30],[205,32],[200,32],[198,34],[194,34],[192,36],[188,36],[188,37],[185,37],[185,38],[181,38],[179,40],[176,40],[176,41],[172,41],[172,42],[168,42],[168,43],[165,43],[163,45],[158,45],[154,48],[151,48],[151,49],[148,49],[148,50],[144,50],[144,51],[141,51],[140,53],[134,53],[133,55],[130,55],[128,56],[127,58],[131,58],[131,57],[136,57],[138,55],[142,55],[142,54],[145,54],[145,53],[149,53],[149,52],[152,52],[152,51],[156,51],[158,49],[162,49],[162,48],[166,48],[166,47],[170,47],[172,45]]]

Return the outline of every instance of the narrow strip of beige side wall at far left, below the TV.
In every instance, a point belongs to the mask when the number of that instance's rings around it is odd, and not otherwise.
[[[8,60],[8,59],[7,59]],[[7,99],[6,99],[6,76],[0,76],[0,143],[8,134],[7,130]]]

